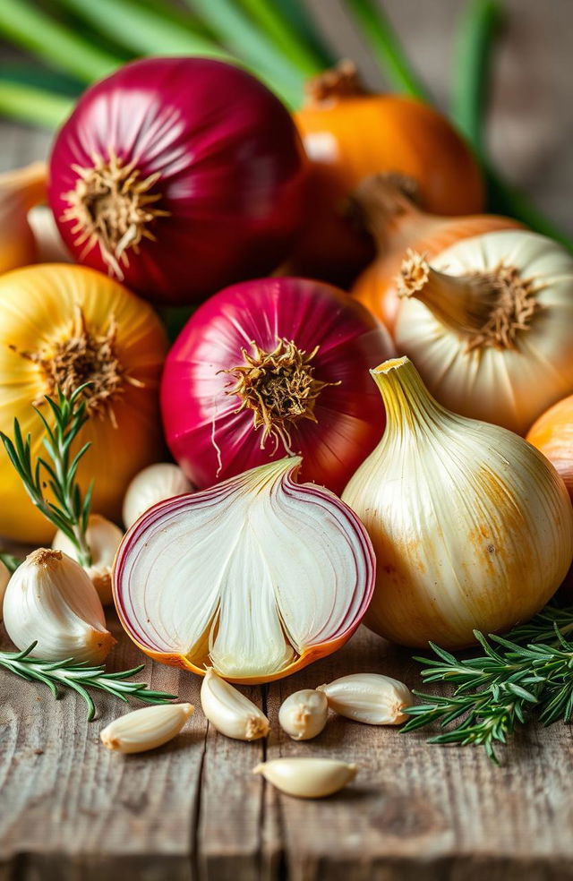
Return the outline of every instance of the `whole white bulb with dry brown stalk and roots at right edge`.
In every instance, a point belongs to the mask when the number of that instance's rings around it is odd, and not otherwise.
[[[402,266],[395,338],[455,413],[518,434],[573,391],[573,257],[507,230]]]

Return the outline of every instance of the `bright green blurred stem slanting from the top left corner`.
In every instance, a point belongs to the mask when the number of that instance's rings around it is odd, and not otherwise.
[[[120,59],[92,47],[26,0],[2,0],[0,34],[85,82],[99,80],[121,64]]]

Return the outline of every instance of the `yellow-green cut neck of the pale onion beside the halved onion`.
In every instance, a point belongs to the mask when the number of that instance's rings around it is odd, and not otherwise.
[[[447,414],[432,398],[409,358],[392,358],[370,373],[386,410],[386,432],[382,443],[390,437],[403,436],[405,432],[435,426]]]

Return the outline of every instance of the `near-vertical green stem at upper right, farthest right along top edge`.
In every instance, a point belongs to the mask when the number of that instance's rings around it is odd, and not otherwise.
[[[483,114],[500,20],[498,0],[469,0],[456,29],[451,116],[477,151],[483,150]]]

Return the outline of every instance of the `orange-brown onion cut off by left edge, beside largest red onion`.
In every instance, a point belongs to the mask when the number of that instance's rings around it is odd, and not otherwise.
[[[44,162],[0,175],[0,274],[35,260],[36,242],[28,212],[45,197]]]

